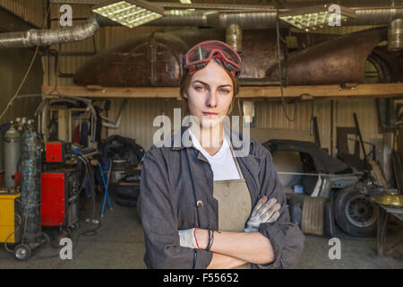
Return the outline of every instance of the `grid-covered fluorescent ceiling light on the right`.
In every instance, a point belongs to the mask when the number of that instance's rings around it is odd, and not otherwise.
[[[297,8],[289,11],[279,13],[279,18],[296,28],[302,30],[315,29],[324,25],[329,25],[332,20],[336,18],[336,13],[339,13],[339,21],[346,22],[348,18],[356,18],[356,12],[346,7],[335,5],[339,7],[338,11],[330,9],[332,4],[322,4],[311,7]]]

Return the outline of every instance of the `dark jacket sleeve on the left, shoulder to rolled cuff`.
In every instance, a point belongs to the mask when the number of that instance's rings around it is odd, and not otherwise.
[[[147,267],[206,268],[212,258],[210,251],[183,248],[179,244],[176,202],[161,149],[152,147],[144,156],[140,193]]]

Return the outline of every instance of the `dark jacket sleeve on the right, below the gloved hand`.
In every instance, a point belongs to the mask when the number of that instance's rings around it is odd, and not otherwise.
[[[267,265],[254,265],[254,268],[293,268],[301,257],[304,248],[304,234],[299,227],[290,222],[287,198],[279,181],[277,171],[271,160],[270,152],[266,155],[261,172],[261,195],[276,197],[281,205],[279,219],[272,223],[262,223],[259,232],[270,239],[274,250],[274,261]]]

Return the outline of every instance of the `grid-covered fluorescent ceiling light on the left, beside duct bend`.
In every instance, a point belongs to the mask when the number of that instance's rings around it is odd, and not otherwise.
[[[159,19],[164,9],[159,5],[141,0],[107,1],[92,8],[93,13],[134,28]]]

